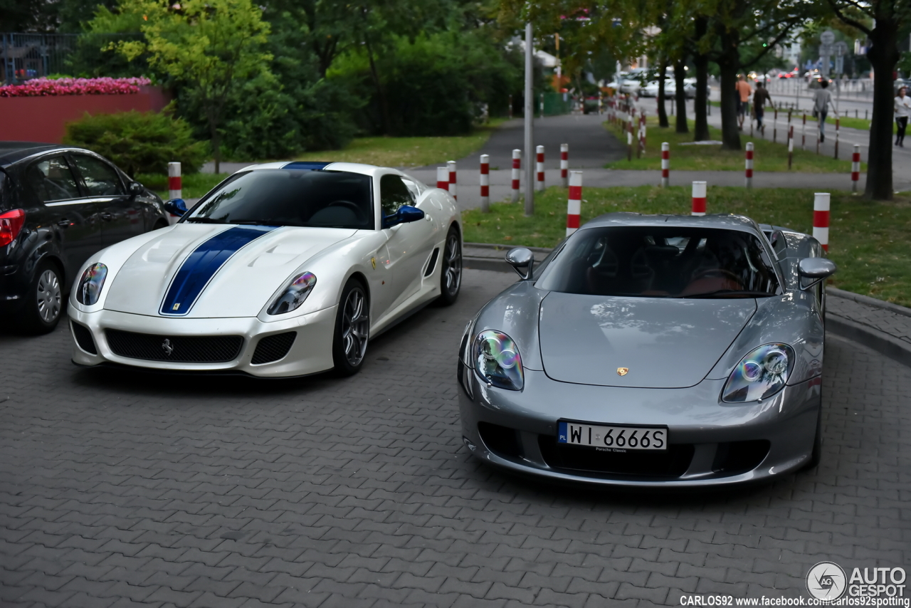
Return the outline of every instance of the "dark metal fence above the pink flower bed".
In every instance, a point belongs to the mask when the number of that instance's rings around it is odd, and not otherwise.
[[[78,34],[0,33],[0,80],[5,84],[65,73]]]

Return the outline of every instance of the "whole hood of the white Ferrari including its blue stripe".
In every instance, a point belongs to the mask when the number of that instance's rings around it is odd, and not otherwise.
[[[356,231],[179,223],[140,245],[110,283],[121,313],[255,316],[291,273]]]

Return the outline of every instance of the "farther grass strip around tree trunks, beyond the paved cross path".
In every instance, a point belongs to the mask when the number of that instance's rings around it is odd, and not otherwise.
[[[668,117],[670,124],[673,125],[672,117]],[[690,133],[677,133],[673,126],[661,129],[658,126],[658,117],[647,117],[646,132],[646,149],[640,159],[636,158],[635,150],[633,151],[632,160],[616,160],[609,162],[605,167],[607,169],[633,169],[633,170],[653,170],[661,169],[661,142],[670,143],[670,170],[731,170],[742,171],[745,160],[744,150],[725,150],[721,146],[681,146],[684,142],[692,141],[693,121],[690,120]],[[613,133],[618,139],[625,140],[626,135],[621,131],[619,126],[605,123],[605,127]],[[635,129],[635,127],[634,127]],[[766,134],[771,135],[772,125],[766,127]],[[842,156],[847,160],[834,160],[828,156],[817,155],[814,151],[798,149],[800,144],[800,135],[794,129],[795,145],[793,152],[793,171],[798,173],[850,173],[851,172],[851,155],[848,150],[844,150]],[[749,128],[747,127],[747,133]],[[721,140],[721,129],[709,127],[709,136],[711,139]],[[782,125],[779,125],[779,140],[785,143],[773,143],[765,139],[756,137],[751,139],[749,135],[741,134],[742,146],[746,147],[746,142],[753,142],[753,163],[752,168],[756,171],[787,171],[788,170],[788,147],[787,133]],[[635,138],[635,133],[633,133]],[[808,144],[809,146],[809,144]],[[866,170],[866,163],[861,163],[861,170]]]

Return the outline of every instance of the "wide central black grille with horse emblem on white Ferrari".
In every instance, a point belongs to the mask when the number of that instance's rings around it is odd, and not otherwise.
[[[241,354],[240,335],[156,335],[106,329],[115,355],[174,363],[226,363]]]

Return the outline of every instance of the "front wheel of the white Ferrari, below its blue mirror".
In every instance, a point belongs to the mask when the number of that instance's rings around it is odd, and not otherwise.
[[[333,337],[333,363],[341,376],[352,376],[363,366],[370,334],[370,303],[363,284],[357,279],[348,279],[339,299],[335,314],[335,335]]]

